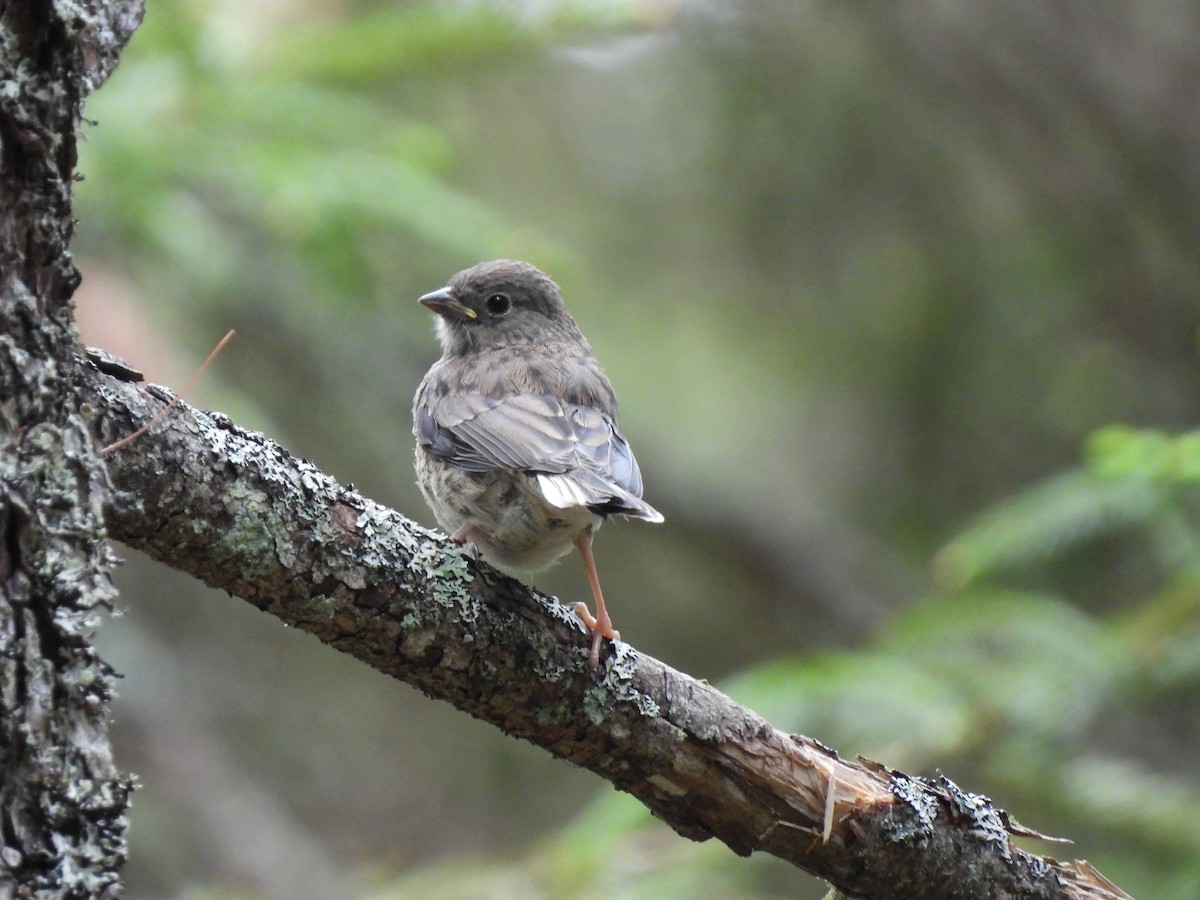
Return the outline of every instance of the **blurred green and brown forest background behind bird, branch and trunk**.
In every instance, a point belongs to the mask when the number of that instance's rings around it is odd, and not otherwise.
[[[596,541],[628,640],[1194,900],[1198,95],[1182,0],[151,0],[80,328],[175,388],[236,329],[190,401],[432,524],[415,298],[535,263],[667,516]],[[133,898],[823,893],[124,556]]]

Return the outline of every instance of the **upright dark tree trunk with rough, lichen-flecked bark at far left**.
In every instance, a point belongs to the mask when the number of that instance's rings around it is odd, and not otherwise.
[[[130,782],[90,644],[113,596],[110,488],[66,386],[67,242],[83,98],[140,13],[0,2],[0,896],[112,896],[125,858]]]

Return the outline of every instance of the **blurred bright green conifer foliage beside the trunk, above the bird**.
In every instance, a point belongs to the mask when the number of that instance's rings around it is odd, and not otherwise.
[[[415,266],[443,274],[502,248],[562,256],[510,240],[516,223],[450,184],[456,155],[427,107],[457,77],[631,23],[623,5],[422,4],[263,29],[240,8],[154,4],[89,106],[103,139],[80,169],[102,187],[80,191],[83,217],[136,248],[168,304],[182,284],[214,306],[247,292],[364,304],[406,253],[456,260]]]

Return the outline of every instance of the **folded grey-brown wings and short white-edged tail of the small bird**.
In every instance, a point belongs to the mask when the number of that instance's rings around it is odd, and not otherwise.
[[[426,452],[473,472],[534,474],[553,506],[662,518],[641,499],[642,474],[624,434],[594,407],[545,394],[454,394],[419,403],[415,424]]]

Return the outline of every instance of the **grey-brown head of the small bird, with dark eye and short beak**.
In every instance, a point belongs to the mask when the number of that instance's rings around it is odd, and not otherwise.
[[[463,269],[419,302],[438,314],[438,340],[446,356],[582,341],[558,286],[540,269],[516,259]]]

